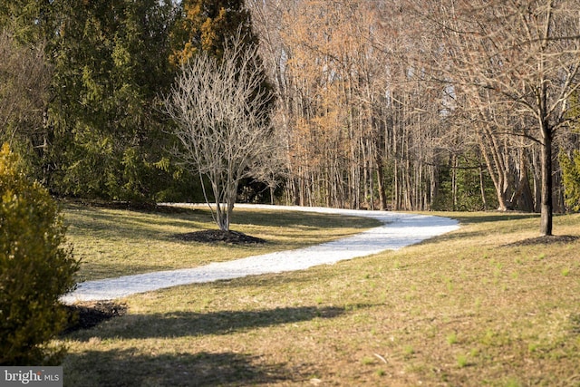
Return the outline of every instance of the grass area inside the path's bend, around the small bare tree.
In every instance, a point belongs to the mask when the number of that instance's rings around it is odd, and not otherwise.
[[[82,262],[79,282],[306,247],[380,225],[368,218],[246,208],[235,208],[233,217],[232,231],[266,239],[266,244],[211,246],[179,240],[177,234],[218,228],[205,207],[147,212],[64,206],[66,235]]]

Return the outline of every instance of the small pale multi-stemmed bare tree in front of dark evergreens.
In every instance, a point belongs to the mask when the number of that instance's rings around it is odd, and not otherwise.
[[[257,47],[243,44],[237,34],[221,59],[203,52],[190,59],[165,100],[180,142],[174,155],[198,172],[221,230],[229,230],[240,180],[253,177],[271,184],[277,169],[282,144],[269,117],[265,77]]]

